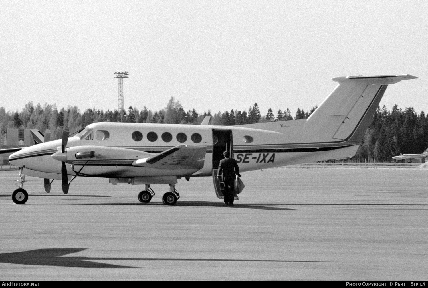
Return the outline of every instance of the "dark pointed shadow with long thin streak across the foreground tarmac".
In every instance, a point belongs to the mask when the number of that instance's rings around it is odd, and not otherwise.
[[[1,253],[0,263],[77,267],[77,268],[138,268],[134,266],[123,266],[105,264],[93,261],[221,261],[221,262],[303,262],[320,263],[326,261],[291,261],[291,260],[251,260],[251,259],[204,259],[204,258],[98,258],[82,256],[65,256],[71,253],[81,252],[88,248],[46,248],[21,252]]]

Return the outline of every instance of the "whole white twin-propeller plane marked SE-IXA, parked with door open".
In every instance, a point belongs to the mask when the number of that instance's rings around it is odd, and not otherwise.
[[[169,184],[163,195],[166,205],[180,197],[177,179],[212,176],[217,197],[223,198],[216,177],[223,151],[231,151],[240,172],[352,157],[386,87],[415,78],[408,74],[333,78],[339,85],[302,120],[237,126],[207,125],[209,118],[202,125],[98,122],[70,137],[65,130],[62,140],[10,155],[10,163],[21,167],[12,200],[27,201],[25,175],[44,178],[48,193],[51,179],[58,179],[67,194],[76,176],[109,178],[113,185],[145,184],[138,195],[143,203],[155,195],[150,184]]]

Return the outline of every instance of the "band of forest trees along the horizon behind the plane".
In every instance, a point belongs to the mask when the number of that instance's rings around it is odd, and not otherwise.
[[[288,108],[276,113],[269,109],[266,114],[260,112],[254,103],[247,110],[230,110],[212,114],[210,110],[198,113],[195,109],[184,110],[179,101],[171,97],[164,109],[153,112],[144,106],[142,110],[129,107],[125,111],[125,122],[169,123],[199,125],[205,116],[210,115],[210,125],[242,125],[260,122],[306,119],[316,106],[308,111],[298,108],[295,116]],[[116,122],[117,110],[87,109],[83,113],[77,106],[68,106],[58,110],[56,104],[25,104],[21,112],[12,113],[0,107],[0,129],[2,139],[7,128],[39,129],[42,133],[49,129],[51,140],[60,139],[65,127],[70,133],[94,122]],[[378,107],[372,125],[367,129],[357,154],[352,160],[364,162],[392,162],[393,156],[404,153],[422,153],[428,148],[428,116],[421,111],[419,115],[413,107],[404,110],[397,104],[392,110]]]

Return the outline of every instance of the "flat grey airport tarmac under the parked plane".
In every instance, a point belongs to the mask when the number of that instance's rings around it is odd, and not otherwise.
[[[77,178],[45,193],[0,172],[0,280],[425,280],[428,170],[278,168],[243,173],[235,206],[211,178],[167,185],[141,204],[142,185]]]

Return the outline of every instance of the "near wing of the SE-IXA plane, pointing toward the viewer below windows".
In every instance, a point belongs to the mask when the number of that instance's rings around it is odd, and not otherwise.
[[[207,148],[178,145],[148,158],[135,160],[133,166],[158,169],[202,169]]]

